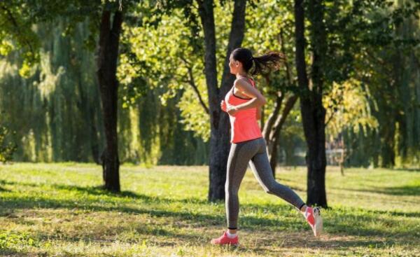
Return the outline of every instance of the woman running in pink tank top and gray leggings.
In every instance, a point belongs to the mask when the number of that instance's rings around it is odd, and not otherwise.
[[[236,76],[236,80],[221,102],[221,109],[229,114],[232,143],[225,184],[228,230],[221,237],[212,239],[211,244],[239,243],[238,191],[248,163],[265,192],[281,197],[299,210],[317,237],[323,226],[320,209],[308,207],[293,190],[276,182],[269,165],[265,139],[257,123],[257,119],[260,119],[260,108],[266,100],[255,88],[251,75],[278,68],[283,58],[279,53],[253,57],[251,50],[237,48],[232,51],[229,60],[230,73]]]

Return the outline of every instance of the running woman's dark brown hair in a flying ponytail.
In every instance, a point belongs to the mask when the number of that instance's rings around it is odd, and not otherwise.
[[[272,71],[273,69],[279,69],[284,60],[283,54],[276,52],[269,52],[265,55],[253,57],[251,50],[247,48],[236,48],[232,51],[232,57],[233,60],[242,63],[246,73],[251,71],[251,75],[258,75]]]

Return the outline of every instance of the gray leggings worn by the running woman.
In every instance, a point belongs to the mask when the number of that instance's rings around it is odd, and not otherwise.
[[[228,228],[237,228],[239,214],[238,191],[241,181],[244,179],[248,162],[255,178],[258,179],[265,192],[281,197],[283,200],[293,204],[297,209],[303,206],[304,202],[293,190],[277,183],[274,179],[269,165],[265,139],[259,138],[232,144],[225,184]]]

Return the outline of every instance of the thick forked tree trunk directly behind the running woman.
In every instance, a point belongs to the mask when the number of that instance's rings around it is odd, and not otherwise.
[[[218,88],[216,69],[216,32],[214,25],[214,1],[197,0],[199,14],[204,29],[204,72],[210,111],[210,161],[209,161],[209,201],[225,199],[226,167],[230,148],[229,117],[221,111],[220,102],[232,87],[235,77],[229,73],[229,55],[241,46],[245,30],[245,0],[236,0],[233,11],[232,27],[224,60],[221,88]]]

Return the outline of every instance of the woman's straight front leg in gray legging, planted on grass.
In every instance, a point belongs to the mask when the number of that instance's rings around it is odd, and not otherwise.
[[[258,151],[258,141],[251,140],[232,144],[228,158],[228,172],[225,183],[226,218],[229,230],[237,229],[239,215],[238,191],[248,167],[248,162]]]

